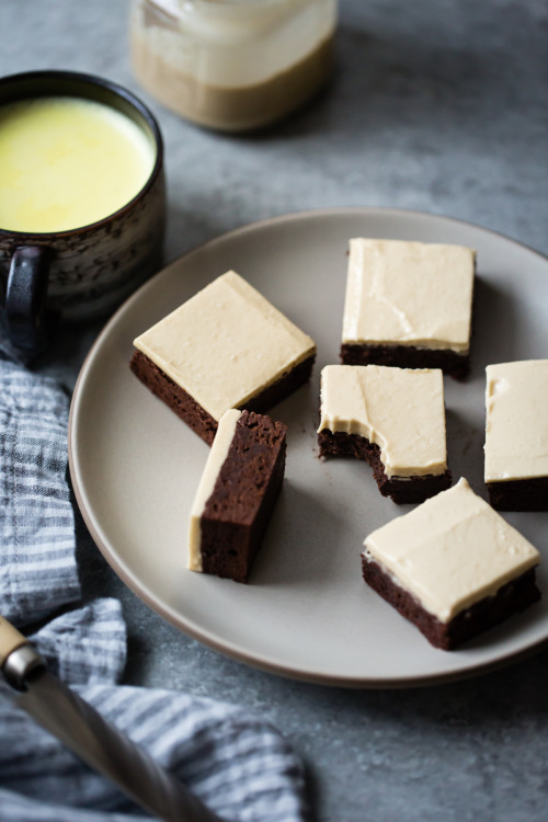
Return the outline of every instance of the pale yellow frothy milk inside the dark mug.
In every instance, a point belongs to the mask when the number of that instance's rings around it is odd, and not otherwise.
[[[117,212],[156,160],[129,117],[80,98],[37,98],[0,107],[0,228],[67,231]]]

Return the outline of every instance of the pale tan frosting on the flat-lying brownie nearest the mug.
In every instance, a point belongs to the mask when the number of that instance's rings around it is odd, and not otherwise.
[[[311,356],[313,340],[229,271],[134,345],[215,420]]]

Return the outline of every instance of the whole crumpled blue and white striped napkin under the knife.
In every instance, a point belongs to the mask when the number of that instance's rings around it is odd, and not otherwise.
[[[18,362],[0,333],[0,614],[31,636],[53,672],[221,818],[304,822],[302,765],[267,722],[226,703],[116,684],[126,661],[119,603],[81,606],[66,479],[68,406],[64,390]],[[0,819],[144,817],[14,707],[1,683]]]

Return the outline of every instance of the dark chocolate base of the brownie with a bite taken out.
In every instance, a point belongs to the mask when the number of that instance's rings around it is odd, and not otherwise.
[[[409,479],[393,479],[385,473],[380,460],[380,448],[359,434],[346,434],[342,431],[324,429],[318,434],[320,457],[354,457],[366,460],[373,468],[373,476],[383,496],[390,496],[399,505],[424,502],[439,491],[450,487],[452,473],[415,476]]]

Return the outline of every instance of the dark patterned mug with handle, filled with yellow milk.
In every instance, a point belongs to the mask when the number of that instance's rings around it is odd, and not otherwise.
[[[160,267],[162,139],[148,109],[64,71],[0,79],[0,275],[12,342],[44,347],[46,306],[111,310]]]

